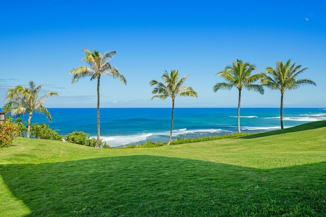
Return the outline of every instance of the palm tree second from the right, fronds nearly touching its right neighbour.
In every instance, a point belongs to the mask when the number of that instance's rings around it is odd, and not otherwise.
[[[243,60],[237,59],[232,61],[232,65],[225,67],[224,71],[217,73],[217,76],[221,76],[227,82],[216,83],[213,87],[214,92],[219,89],[232,89],[236,87],[239,90],[239,99],[238,99],[238,133],[241,133],[240,130],[240,103],[241,103],[241,90],[246,88],[248,90],[254,90],[260,94],[264,94],[264,88],[262,85],[253,84],[257,80],[264,77],[264,73],[259,72],[254,75],[251,75],[251,72],[256,69],[255,65],[249,64],[248,62],[243,63]]]

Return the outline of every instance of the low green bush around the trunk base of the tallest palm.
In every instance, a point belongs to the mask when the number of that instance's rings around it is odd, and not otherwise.
[[[65,136],[65,140],[67,142],[71,142],[79,145],[85,145],[90,147],[96,146],[96,139],[95,138],[90,139],[90,135],[84,133],[83,131],[74,131],[72,133],[69,133]],[[100,140],[100,146],[103,148],[110,148],[110,146],[108,146],[106,142],[103,142],[103,140]]]

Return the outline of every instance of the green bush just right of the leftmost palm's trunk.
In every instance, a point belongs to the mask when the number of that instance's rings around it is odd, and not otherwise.
[[[33,123],[31,126],[31,136],[36,139],[50,139],[62,141],[63,136],[60,136],[58,130],[50,129],[45,123]]]

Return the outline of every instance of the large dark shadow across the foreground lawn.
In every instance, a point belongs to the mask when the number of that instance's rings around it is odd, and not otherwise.
[[[0,173],[28,216],[326,216],[324,168],[129,156],[0,165]]]

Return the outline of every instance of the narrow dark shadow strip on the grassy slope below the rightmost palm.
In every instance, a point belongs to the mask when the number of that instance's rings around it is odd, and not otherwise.
[[[298,132],[298,131],[305,131],[305,130],[313,130],[317,128],[323,128],[326,127],[326,120],[320,120],[320,121],[314,121],[309,123],[304,123],[303,125],[295,126],[292,128],[286,128],[283,130],[275,130],[275,131],[269,131],[266,133],[259,133],[254,134],[250,136],[243,136],[239,137],[241,139],[252,139],[252,138],[259,138],[259,137],[265,137],[265,136],[273,136],[273,135],[279,135],[284,133],[292,133],[292,132]]]

